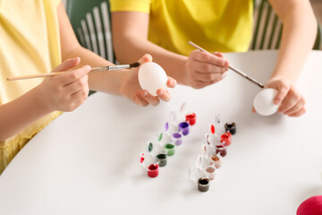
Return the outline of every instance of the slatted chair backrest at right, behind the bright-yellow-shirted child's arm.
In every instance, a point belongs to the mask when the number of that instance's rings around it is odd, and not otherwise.
[[[267,0],[254,0],[254,30],[251,50],[278,49],[281,44],[283,24]],[[318,26],[318,35],[314,49],[321,48],[321,29]]]

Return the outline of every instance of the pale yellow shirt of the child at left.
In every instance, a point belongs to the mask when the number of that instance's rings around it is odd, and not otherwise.
[[[60,0],[0,0],[0,105],[19,98],[42,82],[42,79],[8,82],[7,77],[49,73],[61,63],[56,11],[59,3]],[[44,116],[0,142],[0,174],[14,155],[59,114]]]

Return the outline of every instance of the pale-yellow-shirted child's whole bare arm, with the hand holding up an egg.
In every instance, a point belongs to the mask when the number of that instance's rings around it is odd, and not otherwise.
[[[80,47],[79,42],[72,30],[72,25],[69,22],[68,16],[65,13],[64,5],[60,4],[57,9],[59,26],[61,32],[61,48],[63,60],[80,56],[80,65],[89,64],[92,67],[106,66],[112,63],[106,61],[106,59],[97,54],[89,51],[84,47]],[[140,57],[135,57],[131,61],[127,61],[125,64],[130,64],[138,61]],[[140,63],[145,63],[151,60],[150,56],[143,56],[140,59]],[[90,73],[89,74],[89,88],[91,90],[104,91],[115,95],[123,95],[128,99],[131,99],[135,103],[146,106],[148,104],[157,105],[159,99],[168,101],[171,96],[166,90],[158,90],[158,97],[153,97],[150,94],[147,95],[146,90],[141,90],[138,77],[138,69],[132,70],[119,70],[108,71],[102,73]],[[168,87],[174,87],[175,81],[169,78]]]

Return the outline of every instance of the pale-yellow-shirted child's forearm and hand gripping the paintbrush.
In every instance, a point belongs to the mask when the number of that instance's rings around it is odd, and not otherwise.
[[[54,71],[72,69],[79,61],[77,58],[64,62]],[[18,99],[0,106],[0,142],[55,110],[72,111],[79,107],[89,93],[89,69],[83,66],[70,73],[47,78]]]

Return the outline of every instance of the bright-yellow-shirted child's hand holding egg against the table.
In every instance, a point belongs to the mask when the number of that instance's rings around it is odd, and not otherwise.
[[[287,116],[301,116],[305,114],[305,99],[293,84],[280,79],[272,79],[265,84],[265,87],[277,90],[273,102],[275,105],[279,105],[278,112]]]

